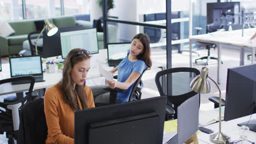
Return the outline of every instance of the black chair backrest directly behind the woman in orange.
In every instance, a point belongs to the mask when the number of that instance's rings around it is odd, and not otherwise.
[[[48,127],[44,115],[44,98],[33,100],[21,109],[18,144],[45,143]]]

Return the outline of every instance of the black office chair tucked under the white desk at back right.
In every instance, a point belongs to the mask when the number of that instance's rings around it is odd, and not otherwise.
[[[217,31],[218,28],[221,28],[221,27],[220,27],[220,26],[210,26],[210,25],[209,25],[209,26],[206,27],[206,33],[208,33],[208,32],[215,32],[215,31]],[[201,30],[200,28],[197,28],[197,29],[196,29],[197,34],[200,33],[200,30]],[[197,63],[197,61],[198,61],[199,59],[201,59],[201,60],[202,60],[202,59],[207,59],[207,60],[206,60],[206,64],[208,65],[208,62],[210,61],[210,59],[218,60],[217,57],[211,57],[211,55],[210,55],[210,49],[213,48],[213,49],[215,50],[216,44],[203,43],[203,42],[198,42],[198,41],[197,41],[196,44],[197,44],[197,45],[201,45],[201,46],[205,46],[206,49],[208,50],[208,55],[205,56],[205,57],[200,57],[200,58],[195,59],[195,63]],[[222,62],[222,64],[223,64],[223,62]]]

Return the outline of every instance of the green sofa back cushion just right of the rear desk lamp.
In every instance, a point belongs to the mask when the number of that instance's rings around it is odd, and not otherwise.
[[[56,27],[73,27],[75,26],[74,16],[56,17],[53,18],[53,23]]]

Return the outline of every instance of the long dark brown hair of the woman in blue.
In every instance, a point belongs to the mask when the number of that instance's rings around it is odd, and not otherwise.
[[[137,58],[144,61],[146,63],[146,65],[148,66],[148,69],[150,69],[152,67],[152,61],[150,59],[150,46],[149,46],[150,39],[149,39],[148,35],[139,33],[139,34],[136,34],[133,37],[133,39],[139,39],[139,41],[141,41],[141,43],[143,44],[143,52],[140,53],[137,56]]]

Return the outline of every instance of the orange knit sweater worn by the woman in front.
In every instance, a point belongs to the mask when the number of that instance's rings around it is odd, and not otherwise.
[[[89,107],[95,107],[91,88],[86,86],[85,92],[89,100]],[[79,98],[78,104],[82,109]],[[74,143],[74,111],[65,103],[60,83],[46,90],[44,113],[48,126],[48,136],[45,143]]]

